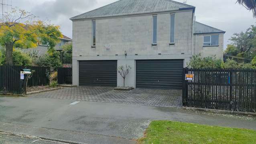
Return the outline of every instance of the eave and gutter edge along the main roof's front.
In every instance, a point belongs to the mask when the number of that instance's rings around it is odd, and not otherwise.
[[[157,11],[150,11],[150,12],[138,12],[138,13],[130,13],[130,14],[116,14],[116,15],[108,15],[108,16],[91,16],[85,18],[70,18],[69,20],[86,20],[86,19],[93,19],[93,18],[110,18],[110,17],[117,17],[117,16],[132,16],[132,15],[139,15],[139,14],[153,14],[158,12],[173,12],[173,11],[185,11],[185,10],[193,10],[195,12],[195,7],[191,8],[175,8],[171,10],[157,10]]]

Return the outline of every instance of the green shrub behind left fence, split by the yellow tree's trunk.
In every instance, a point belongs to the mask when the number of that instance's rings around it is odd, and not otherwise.
[[[6,63],[6,51],[4,48],[0,50],[0,65]],[[31,66],[32,59],[28,56],[28,54],[21,52],[20,50],[14,50],[12,53],[13,65],[14,66]]]

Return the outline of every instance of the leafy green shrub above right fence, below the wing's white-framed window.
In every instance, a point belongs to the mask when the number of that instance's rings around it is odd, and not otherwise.
[[[202,58],[201,54],[194,55],[187,64],[191,68],[221,68],[222,61],[216,56]]]

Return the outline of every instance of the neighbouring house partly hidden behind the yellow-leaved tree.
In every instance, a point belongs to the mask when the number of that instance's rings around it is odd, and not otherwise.
[[[67,44],[67,43],[68,44],[72,43],[72,39],[65,35],[63,35],[63,38],[59,38],[59,40],[60,40],[60,42],[55,46],[55,50],[63,50],[61,48],[61,46],[63,46],[64,44]],[[22,50],[23,52],[26,52],[26,53],[36,51],[39,56],[43,56],[43,55],[47,54],[48,46],[39,44],[37,46],[37,48],[22,48],[20,50]]]

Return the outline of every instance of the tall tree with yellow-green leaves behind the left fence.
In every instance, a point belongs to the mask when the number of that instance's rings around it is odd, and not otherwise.
[[[46,44],[50,50],[62,37],[59,26],[35,20],[35,16],[13,8],[5,13],[0,23],[0,44],[6,48],[6,64],[13,65],[13,48],[35,48],[37,44]]]

